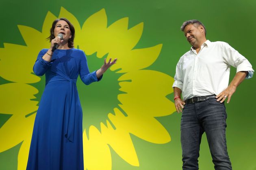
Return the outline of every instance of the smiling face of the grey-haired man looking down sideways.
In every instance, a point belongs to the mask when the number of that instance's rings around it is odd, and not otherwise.
[[[200,43],[204,36],[204,28],[202,26],[197,26],[196,24],[189,24],[184,28],[184,34],[192,46]]]

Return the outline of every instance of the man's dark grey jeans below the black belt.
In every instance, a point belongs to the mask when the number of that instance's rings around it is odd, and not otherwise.
[[[215,98],[186,104],[181,117],[183,170],[198,170],[202,134],[205,132],[215,170],[232,170],[226,144],[226,107]]]

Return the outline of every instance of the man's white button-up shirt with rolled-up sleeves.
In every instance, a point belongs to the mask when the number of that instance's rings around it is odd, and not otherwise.
[[[230,66],[248,71],[247,79],[253,76],[249,61],[228,43],[207,40],[198,53],[191,47],[180,57],[172,87],[182,90],[183,100],[218,95],[228,87]]]

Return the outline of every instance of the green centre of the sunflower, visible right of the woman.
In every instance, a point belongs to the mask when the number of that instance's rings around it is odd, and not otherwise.
[[[104,58],[96,57],[96,53],[87,55],[90,72],[100,69],[104,64]],[[120,86],[117,81],[120,76],[121,74],[108,69],[101,81],[91,83],[89,86],[78,78],[76,85],[83,111],[83,130],[86,129],[87,134],[91,125],[98,130],[101,122],[106,125],[106,120],[110,121],[108,113],[113,113],[113,109],[120,104],[117,100],[117,95],[121,93],[118,90]]]

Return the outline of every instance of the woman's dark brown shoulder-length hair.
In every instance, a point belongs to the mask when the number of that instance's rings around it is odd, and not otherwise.
[[[68,39],[68,47],[69,48],[73,48],[74,47],[74,38],[75,38],[75,28],[72,25],[71,22],[69,22],[69,20],[67,20],[66,18],[60,18],[60,19],[55,19],[52,23],[52,28],[50,29],[50,36],[47,38],[48,40],[50,40],[50,42],[55,38],[54,36],[54,28],[56,26],[56,23],[60,20],[66,21],[67,24],[69,25],[69,30],[71,32],[71,38]]]

